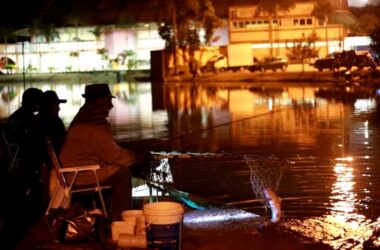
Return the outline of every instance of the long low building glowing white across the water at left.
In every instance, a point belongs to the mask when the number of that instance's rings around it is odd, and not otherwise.
[[[55,28],[56,34],[49,42],[43,34],[36,34],[30,41],[0,44],[1,57],[16,63],[13,73],[21,73],[24,68],[27,73],[149,69],[150,51],[165,47],[155,23],[129,28],[103,26],[98,34],[96,28]],[[29,32],[26,29],[19,33]],[[123,59],[127,51],[133,55]]]

